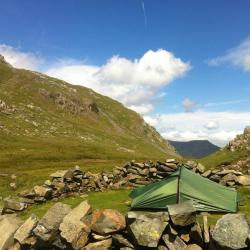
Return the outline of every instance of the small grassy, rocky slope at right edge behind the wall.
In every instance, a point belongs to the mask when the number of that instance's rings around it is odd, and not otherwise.
[[[215,166],[230,167],[236,170],[250,169],[250,127],[237,135],[220,151],[201,159],[208,168]]]

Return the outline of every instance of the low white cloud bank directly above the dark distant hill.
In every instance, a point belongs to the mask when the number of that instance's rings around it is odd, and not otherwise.
[[[243,129],[250,124],[250,112],[197,111],[144,118],[166,139],[176,141],[206,139],[220,146],[242,133]]]

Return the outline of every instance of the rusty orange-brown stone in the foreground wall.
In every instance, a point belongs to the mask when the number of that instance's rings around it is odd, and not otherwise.
[[[125,217],[114,209],[98,209],[92,214],[91,228],[98,234],[108,234],[123,230]]]

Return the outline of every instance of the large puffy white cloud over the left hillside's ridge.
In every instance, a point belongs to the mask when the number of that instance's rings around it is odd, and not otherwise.
[[[113,56],[102,66],[72,63],[55,65],[46,73],[72,84],[80,84],[146,114],[162,86],[183,76],[191,66],[172,53],[149,50],[140,59]],[[161,98],[160,95],[158,98]]]

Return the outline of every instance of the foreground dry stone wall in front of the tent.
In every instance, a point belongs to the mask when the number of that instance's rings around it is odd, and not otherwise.
[[[58,202],[41,219],[0,216],[0,249],[249,249],[248,223],[241,214],[227,214],[215,227],[206,216],[201,225],[190,201],[168,206],[168,212],[126,216],[114,209],[92,211],[87,201],[74,209]]]

